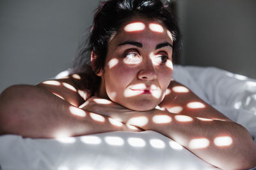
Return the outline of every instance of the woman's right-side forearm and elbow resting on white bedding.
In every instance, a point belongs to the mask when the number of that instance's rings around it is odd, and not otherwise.
[[[255,163],[253,164],[256,162],[255,144],[248,131],[241,125],[234,122],[205,121],[172,113],[166,114],[164,111],[154,111],[145,115],[148,123],[141,126],[143,129],[168,136],[214,166],[221,169],[256,166]],[[165,117],[161,119],[163,115]]]

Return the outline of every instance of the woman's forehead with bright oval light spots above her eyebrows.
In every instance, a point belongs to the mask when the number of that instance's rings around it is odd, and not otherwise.
[[[125,22],[109,44],[128,40],[140,41],[141,43],[159,43],[161,41],[173,43],[172,34],[163,24],[143,17],[134,17]]]

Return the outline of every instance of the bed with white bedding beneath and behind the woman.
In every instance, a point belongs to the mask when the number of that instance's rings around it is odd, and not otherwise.
[[[256,80],[196,66],[174,66],[173,78],[246,127],[256,143]],[[0,169],[218,169],[154,131],[58,139],[4,135],[0,136],[0,165]]]

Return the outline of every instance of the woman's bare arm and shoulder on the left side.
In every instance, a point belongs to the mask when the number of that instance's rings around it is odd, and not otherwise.
[[[77,108],[86,97],[86,91],[76,89],[70,78],[9,87],[0,96],[0,134],[58,138],[132,131],[108,117]]]

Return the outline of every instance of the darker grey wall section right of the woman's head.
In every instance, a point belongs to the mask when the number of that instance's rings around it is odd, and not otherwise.
[[[178,0],[182,64],[256,78],[255,0]]]

